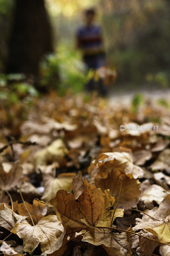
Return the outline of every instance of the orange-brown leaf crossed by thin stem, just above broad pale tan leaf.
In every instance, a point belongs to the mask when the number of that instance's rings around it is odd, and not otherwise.
[[[45,204],[40,203],[39,201],[37,201],[35,199],[33,200],[33,204],[29,204],[27,202],[25,202],[25,204],[26,204],[28,211],[30,212],[31,215],[42,214],[45,216],[47,213],[47,206]],[[17,211],[20,215],[28,215],[28,212],[26,210],[24,203],[18,204]]]

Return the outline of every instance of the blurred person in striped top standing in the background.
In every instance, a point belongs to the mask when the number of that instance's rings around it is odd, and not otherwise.
[[[77,47],[83,53],[83,61],[88,70],[88,91],[98,90],[105,96],[107,93],[103,79],[98,76],[98,69],[105,66],[105,51],[101,28],[94,23],[95,9],[85,10],[85,24],[77,31]]]

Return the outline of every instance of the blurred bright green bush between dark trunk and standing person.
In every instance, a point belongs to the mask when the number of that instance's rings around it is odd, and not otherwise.
[[[83,90],[86,76],[85,66],[78,52],[59,45],[57,53],[46,56],[40,66],[41,86],[50,86],[63,94],[67,89]]]

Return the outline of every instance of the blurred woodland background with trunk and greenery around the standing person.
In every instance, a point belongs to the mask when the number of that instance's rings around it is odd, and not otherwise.
[[[90,7],[103,30],[107,66],[118,74],[110,90],[166,92],[169,0],[0,0],[1,98],[9,96],[4,88],[11,84],[30,94],[83,90],[85,66],[75,35]]]

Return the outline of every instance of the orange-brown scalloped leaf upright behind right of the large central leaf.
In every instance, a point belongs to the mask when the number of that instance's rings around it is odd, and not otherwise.
[[[112,168],[108,172],[100,171],[94,182],[96,187],[101,188],[103,192],[109,189],[110,195],[115,197],[117,203],[121,187],[119,177],[122,177],[122,192],[118,207],[128,209],[138,203],[141,193],[140,182],[135,180],[132,174],[126,175],[119,168]]]

